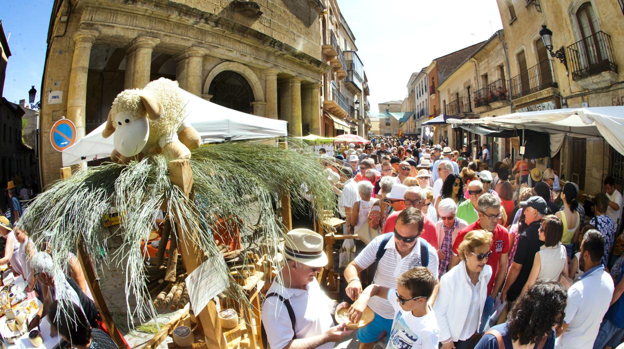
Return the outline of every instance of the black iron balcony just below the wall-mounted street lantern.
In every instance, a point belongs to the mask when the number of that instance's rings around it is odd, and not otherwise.
[[[552,74],[552,61],[545,59],[511,78],[512,99],[528,96],[549,87],[557,87]]]

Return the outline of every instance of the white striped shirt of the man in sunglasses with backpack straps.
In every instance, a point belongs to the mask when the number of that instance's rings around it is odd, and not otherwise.
[[[375,262],[377,250],[383,238],[384,235],[379,235],[378,237],[374,238],[373,241],[366,245],[364,250],[359,253],[358,257],[356,257],[353,262],[356,263],[356,265],[358,265],[358,267],[360,268],[368,268],[371,264]],[[407,270],[410,270],[411,268],[420,267],[422,265],[420,245],[421,243],[427,243],[428,245],[427,248],[429,249],[429,265],[427,265],[427,269],[429,269],[433,276],[437,279],[438,267],[436,248],[434,248],[426,240],[418,238],[417,242],[414,243],[412,252],[410,252],[404,258],[401,258],[401,255],[399,255],[396,250],[396,246],[394,245],[394,238],[391,238],[388,243],[386,243],[386,253],[384,253],[383,257],[381,257],[381,260],[379,260],[377,272],[375,273],[373,282],[376,283],[376,285],[381,285],[383,287],[396,288],[396,282],[399,278],[399,275],[407,272]],[[369,300],[368,306],[373,309],[375,313],[381,315],[381,317],[383,318],[394,318],[394,308],[388,302],[388,300],[375,296]]]

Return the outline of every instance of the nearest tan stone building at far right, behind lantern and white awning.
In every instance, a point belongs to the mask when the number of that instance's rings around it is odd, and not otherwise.
[[[620,106],[624,100],[624,3],[611,0],[497,0],[509,59],[512,111]],[[552,58],[539,31],[552,34]],[[549,160],[560,178],[595,194],[603,178],[624,184],[624,156],[602,138],[566,135]],[[544,168],[545,161],[535,164]]]

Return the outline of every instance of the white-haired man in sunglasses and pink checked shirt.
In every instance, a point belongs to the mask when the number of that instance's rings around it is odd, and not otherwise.
[[[437,258],[440,261],[438,273],[440,277],[449,270],[453,242],[457,238],[457,233],[466,228],[468,224],[465,220],[457,217],[457,204],[453,199],[447,197],[442,199],[437,205],[437,212],[440,220],[436,223]]]

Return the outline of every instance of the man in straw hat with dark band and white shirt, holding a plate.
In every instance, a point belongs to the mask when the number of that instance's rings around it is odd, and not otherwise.
[[[327,265],[323,237],[308,229],[286,234],[285,265],[266,293],[262,328],[268,347],[323,348],[351,335],[345,324],[333,325],[333,301],[321,290],[316,273]],[[349,307],[340,303],[336,310]]]

